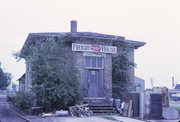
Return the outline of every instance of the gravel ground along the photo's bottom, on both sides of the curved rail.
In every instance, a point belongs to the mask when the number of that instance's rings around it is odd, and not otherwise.
[[[32,122],[143,122],[141,120],[120,117],[118,115],[101,115],[91,117],[26,117]],[[16,116],[9,109],[8,104],[6,104],[5,96],[2,95],[0,95],[0,122],[24,122],[24,120]],[[179,120],[146,120],[146,122],[179,122]]]

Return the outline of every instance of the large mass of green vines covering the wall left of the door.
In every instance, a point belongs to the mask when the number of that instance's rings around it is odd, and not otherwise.
[[[25,58],[31,69],[36,106],[52,111],[75,105],[81,98],[78,71],[68,60],[72,54],[65,55],[63,37],[40,38],[35,42],[27,49]]]

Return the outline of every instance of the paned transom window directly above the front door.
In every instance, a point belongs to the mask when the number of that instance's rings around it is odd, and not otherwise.
[[[102,57],[85,57],[85,67],[102,69],[104,68],[103,61]]]

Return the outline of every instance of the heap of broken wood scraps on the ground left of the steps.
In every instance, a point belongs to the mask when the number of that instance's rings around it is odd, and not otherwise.
[[[88,104],[76,105],[69,107],[71,116],[84,117],[91,116],[93,112],[89,109]]]

